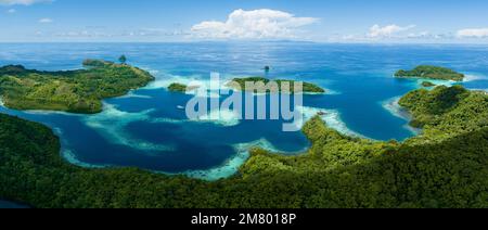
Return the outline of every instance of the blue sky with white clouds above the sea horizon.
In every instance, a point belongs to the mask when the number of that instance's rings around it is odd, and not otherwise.
[[[0,41],[488,42],[486,0],[0,0]]]

